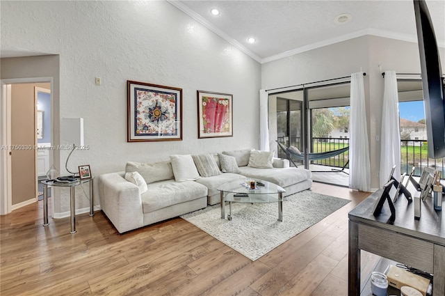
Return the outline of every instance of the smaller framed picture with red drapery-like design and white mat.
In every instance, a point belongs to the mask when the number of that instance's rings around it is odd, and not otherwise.
[[[198,138],[233,137],[233,95],[197,91]]]

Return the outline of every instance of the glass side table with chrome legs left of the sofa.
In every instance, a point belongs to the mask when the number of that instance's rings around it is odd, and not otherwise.
[[[54,182],[54,180],[43,180],[43,226],[48,226],[48,186],[50,187],[70,187],[70,217],[71,217],[71,231],[76,233],[76,186],[88,183],[90,185],[90,216],[95,215],[94,212],[94,194],[93,194],[93,179],[77,179],[74,182],[63,183]]]

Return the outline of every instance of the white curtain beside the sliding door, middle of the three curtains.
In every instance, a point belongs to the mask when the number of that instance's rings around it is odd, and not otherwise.
[[[369,192],[371,189],[371,164],[369,162],[363,72],[351,75],[349,125],[349,187]]]

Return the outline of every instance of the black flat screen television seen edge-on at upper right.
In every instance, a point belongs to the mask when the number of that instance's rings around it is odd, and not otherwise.
[[[424,0],[414,0],[414,15],[419,40],[428,157],[442,158],[445,157],[445,89],[439,48]]]

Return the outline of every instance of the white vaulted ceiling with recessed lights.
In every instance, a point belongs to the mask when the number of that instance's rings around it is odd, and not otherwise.
[[[412,0],[169,2],[260,63],[364,35],[417,42]],[[445,47],[445,0],[426,3]],[[220,14],[212,15],[213,8]],[[350,20],[335,22],[341,14]]]

